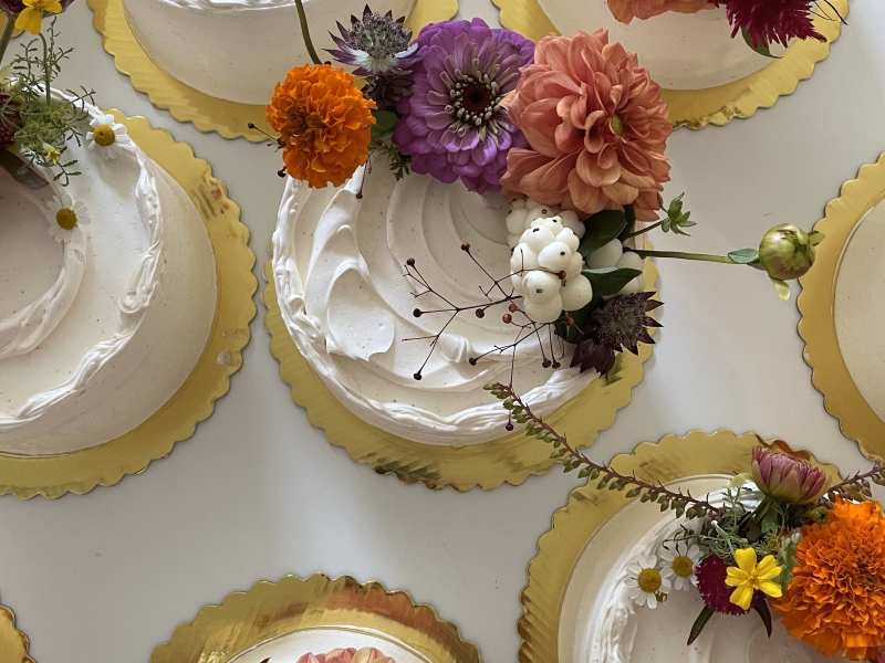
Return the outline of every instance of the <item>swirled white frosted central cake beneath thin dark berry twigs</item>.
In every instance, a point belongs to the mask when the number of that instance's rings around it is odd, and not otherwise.
[[[416,306],[439,309],[482,302],[490,273],[510,273],[504,217],[497,194],[412,175],[396,182],[383,167],[361,169],[343,188],[311,190],[290,179],[273,233],[273,280],[280,309],[299,351],[326,387],[368,423],[427,444],[471,444],[504,434],[507,411],[482,390],[507,381],[512,354],[496,347],[516,340],[497,306],[446,327],[427,365],[429,340],[447,313],[416,318]],[[356,193],[363,188],[362,200]],[[437,295],[404,276],[407,259]],[[500,293],[499,293],[500,294]],[[494,293],[491,293],[494,296]],[[558,343],[542,335],[543,352]],[[486,355],[476,366],[469,357]],[[514,386],[538,412],[548,413],[584,389],[595,373],[545,369],[539,340],[518,346]],[[563,361],[568,367],[569,358]],[[413,377],[421,369],[421,380]]]

